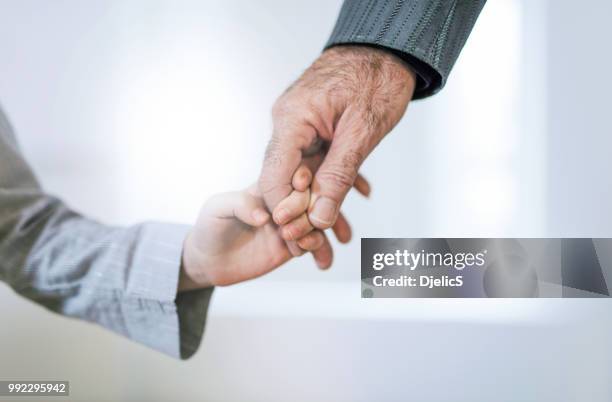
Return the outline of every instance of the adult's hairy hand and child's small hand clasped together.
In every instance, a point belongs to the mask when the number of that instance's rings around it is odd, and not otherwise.
[[[340,206],[352,187],[369,195],[359,168],[403,116],[415,84],[411,68],[386,50],[323,52],[273,107],[258,184],[202,209],[185,241],[179,288],[251,279],[306,251],[328,268],[333,253],[323,230],[350,240]]]

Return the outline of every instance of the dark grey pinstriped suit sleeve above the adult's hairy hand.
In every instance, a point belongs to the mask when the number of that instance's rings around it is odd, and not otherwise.
[[[345,0],[326,48],[387,49],[416,72],[414,99],[438,92],[486,0]]]

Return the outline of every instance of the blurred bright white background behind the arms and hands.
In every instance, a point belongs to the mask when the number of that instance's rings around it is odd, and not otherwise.
[[[45,188],[104,222],[190,223],[256,180],[275,98],[340,1],[0,0],[0,101]],[[217,289],[177,362],[0,288],[0,378],[73,400],[609,401],[608,301],[361,300],[360,237],[612,234],[612,5],[485,7],[446,89],[365,163],[355,239]]]

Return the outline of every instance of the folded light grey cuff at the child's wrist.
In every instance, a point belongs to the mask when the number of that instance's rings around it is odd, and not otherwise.
[[[213,288],[177,294],[183,242],[189,226],[146,223],[122,302],[127,336],[175,358],[198,349]]]

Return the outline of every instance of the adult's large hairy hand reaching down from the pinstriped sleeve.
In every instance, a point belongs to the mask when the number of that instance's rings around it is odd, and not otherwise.
[[[324,157],[310,163],[316,171],[312,202],[299,234],[312,230],[310,224],[334,226],[359,167],[403,116],[415,84],[414,72],[385,50],[351,45],[323,52],[274,105],[274,131],[259,178],[268,208],[292,191],[300,163],[324,149]]]

